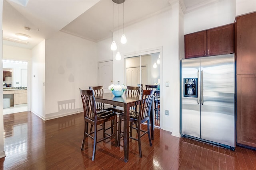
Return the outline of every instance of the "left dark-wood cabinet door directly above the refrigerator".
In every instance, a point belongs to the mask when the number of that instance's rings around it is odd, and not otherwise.
[[[206,56],[206,31],[185,35],[185,59]]]

